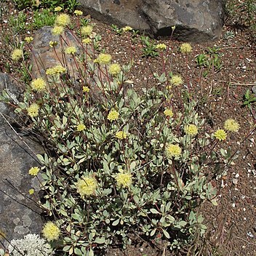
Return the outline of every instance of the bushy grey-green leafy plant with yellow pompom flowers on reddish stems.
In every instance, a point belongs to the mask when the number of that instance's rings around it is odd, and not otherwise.
[[[172,97],[183,93],[180,76],[156,75],[156,87],[136,92],[131,65],[113,65],[82,29],[76,46],[59,35],[76,71],[64,61],[48,69],[16,109],[49,149],[38,158],[41,207],[57,223],[52,245],[94,255],[109,244],[126,247],[132,233],[166,239],[171,249],[192,243],[207,229],[199,206],[217,204],[212,170],[231,163],[231,151],[220,148],[239,124],[207,127],[196,100]]]

